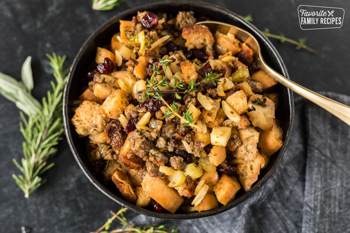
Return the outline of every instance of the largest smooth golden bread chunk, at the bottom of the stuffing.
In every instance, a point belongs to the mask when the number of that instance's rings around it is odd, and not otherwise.
[[[151,177],[147,173],[141,184],[142,189],[170,213],[175,213],[183,203],[180,194],[175,189],[169,188],[162,178]]]

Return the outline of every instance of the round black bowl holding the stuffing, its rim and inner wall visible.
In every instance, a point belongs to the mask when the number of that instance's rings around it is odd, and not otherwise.
[[[98,188],[109,198],[116,201],[118,204],[127,207],[130,210],[145,214],[147,216],[166,219],[192,219],[222,213],[226,210],[231,209],[232,207],[237,206],[249,198],[251,195],[253,195],[253,193],[256,192],[261,187],[261,185],[263,185],[269,179],[269,177],[272,175],[280,163],[282,156],[286,151],[293,125],[294,104],[292,92],[280,84],[276,86],[276,91],[280,94],[280,104],[279,109],[276,112],[276,118],[280,119],[281,121],[281,127],[283,129],[283,146],[278,152],[271,156],[271,160],[268,163],[267,168],[261,170],[258,181],[253,185],[253,187],[247,192],[241,189],[236,194],[236,199],[234,201],[230,202],[229,204],[219,206],[215,209],[200,213],[179,212],[175,214],[157,213],[152,210],[147,210],[134,204],[128,203],[121,196],[115,185],[114,187],[105,185],[100,179],[98,179],[98,177],[93,176],[89,169],[89,163],[87,162],[84,140],[78,137],[74,126],[70,123],[70,119],[74,114],[71,110],[72,102],[74,100],[77,100],[78,96],[81,94],[81,79],[84,77],[84,73],[88,68],[87,66],[94,59],[94,56],[96,54],[96,47],[102,47],[104,45],[110,44],[112,35],[119,32],[119,20],[131,20],[132,16],[136,15],[138,11],[142,10],[148,10],[155,13],[166,12],[173,15],[176,15],[179,10],[193,10],[196,16],[199,16],[201,14],[207,15],[210,16],[212,20],[230,23],[243,28],[253,34],[255,38],[257,38],[261,46],[262,55],[267,64],[288,78],[286,67],[271,42],[251,23],[248,23],[241,16],[225,8],[207,2],[203,3],[195,1],[164,1],[135,7],[114,16],[112,19],[102,24],[102,26],[100,26],[89,38],[87,38],[73,61],[63,97],[64,127],[69,146],[80,168],[83,170],[87,178],[96,186],[96,188]]]

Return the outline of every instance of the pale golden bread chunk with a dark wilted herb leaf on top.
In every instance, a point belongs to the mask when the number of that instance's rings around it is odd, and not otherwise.
[[[266,107],[259,105],[257,102],[252,102],[256,101],[257,99],[262,102],[263,98],[266,98]],[[249,98],[249,104],[252,104],[256,109],[255,111],[247,112],[252,124],[262,130],[271,130],[273,126],[273,119],[275,118],[275,103],[267,97],[262,97],[262,95],[255,94]]]

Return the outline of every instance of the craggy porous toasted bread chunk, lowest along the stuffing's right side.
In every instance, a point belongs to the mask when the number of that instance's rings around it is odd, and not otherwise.
[[[243,164],[237,165],[237,173],[239,175],[239,181],[242,184],[245,191],[252,187],[252,184],[258,180],[260,169],[265,165],[264,158],[257,153],[254,159],[250,161],[244,161]]]

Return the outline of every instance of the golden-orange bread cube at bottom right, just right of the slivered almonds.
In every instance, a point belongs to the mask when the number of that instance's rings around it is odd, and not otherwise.
[[[236,177],[230,177],[226,174],[222,174],[217,184],[214,185],[214,192],[218,201],[226,205],[233,199],[238,190],[241,188]]]

